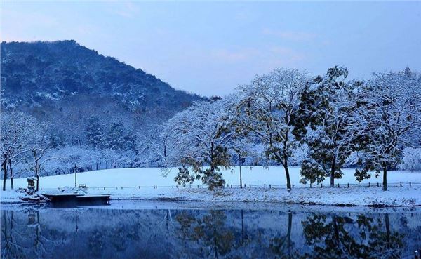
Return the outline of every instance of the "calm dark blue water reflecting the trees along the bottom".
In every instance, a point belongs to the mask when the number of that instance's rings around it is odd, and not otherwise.
[[[420,208],[259,206],[2,204],[1,257],[414,258],[421,248]]]

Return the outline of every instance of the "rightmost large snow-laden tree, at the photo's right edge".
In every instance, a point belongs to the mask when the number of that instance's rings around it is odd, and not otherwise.
[[[387,170],[399,165],[404,148],[421,144],[421,78],[408,69],[377,73],[355,98],[350,125],[364,166],[356,175],[362,180],[370,170],[375,170],[376,177],[382,171],[383,190],[387,190]]]

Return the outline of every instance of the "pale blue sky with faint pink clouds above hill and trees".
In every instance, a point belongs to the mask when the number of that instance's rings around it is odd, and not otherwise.
[[[79,44],[177,89],[226,95],[276,67],[421,71],[421,1],[2,1],[1,41]]]

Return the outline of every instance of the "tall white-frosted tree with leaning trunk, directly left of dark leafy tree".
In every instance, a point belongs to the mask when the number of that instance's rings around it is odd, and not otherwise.
[[[258,138],[267,159],[283,166],[288,190],[289,160],[298,146],[293,128],[307,81],[305,72],[275,69],[238,88],[241,100],[234,119],[237,131]]]

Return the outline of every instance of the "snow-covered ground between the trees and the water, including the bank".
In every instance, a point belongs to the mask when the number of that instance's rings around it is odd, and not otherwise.
[[[284,186],[285,174],[283,168],[271,166],[270,168],[254,167],[242,168],[243,184],[247,187],[239,189],[239,168],[234,173],[224,171],[224,178],[229,187],[214,192],[206,187],[197,187],[201,182],[191,187],[177,186],[173,181],[176,169],[164,177],[159,168],[119,168],[101,171],[91,171],[77,174],[77,183],[86,184],[90,194],[109,193],[112,199],[160,199],[176,201],[266,201],[301,204],[352,204],[357,206],[387,205],[387,206],[417,206],[421,205],[421,172],[389,172],[388,181],[403,183],[403,187],[389,186],[387,192],[376,187],[380,178],[365,180],[359,185],[354,180],[354,170],[345,169],[342,179],[335,182],[341,187],[328,188],[329,178],[323,182],[323,188],[313,186],[302,187],[300,181],[300,168],[290,168],[291,181],[295,188],[286,192]],[[26,179],[15,179],[15,188],[26,187]],[[368,187],[368,182],[372,187]],[[409,187],[408,182],[412,183]],[[347,183],[351,187],[347,188]],[[266,184],[266,187],[263,185]],[[269,184],[272,185],[269,189]],[[58,192],[59,187],[74,186],[74,175],[55,175],[41,178],[39,182],[43,192]],[[230,185],[237,185],[237,187]],[[249,187],[251,185],[251,188]],[[254,185],[254,186],[253,186]],[[260,185],[260,186],[257,186]],[[374,185],[374,187],[373,187]],[[9,182],[7,182],[7,186]],[[140,188],[139,188],[140,186]],[[154,187],[157,186],[157,187]],[[301,187],[301,188],[299,188]],[[1,192],[1,201],[17,201],[19,193],[8,190]]]

